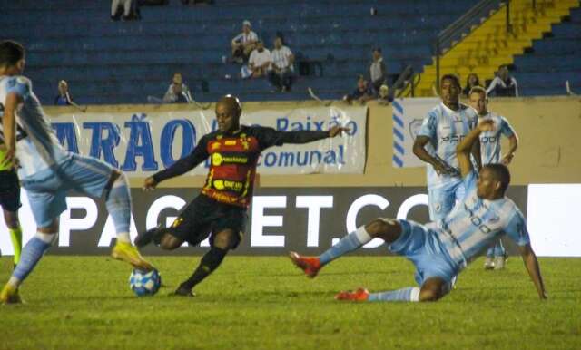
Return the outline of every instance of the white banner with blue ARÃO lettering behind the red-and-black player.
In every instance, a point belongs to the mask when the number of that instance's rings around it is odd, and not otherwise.
[[[206,133],[215,131],[213,111],[95,112],[52,116],[59,141],[69,151],[91,155],[144,177],[189,154]],[[261,174],[363,173],[367,108],[320,107],[242,114],[241,123],[279,131],[327,131],[349,128],[343,137],[307,144],[285,144],[262,152]],[[192,170],[205,175],[209,163]]]

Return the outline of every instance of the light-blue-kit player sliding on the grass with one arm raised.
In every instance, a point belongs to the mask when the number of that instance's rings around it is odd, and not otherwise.
[[[383,239],[393,253],[409,258],[416,267],[419,287],[369,293],[359,288],[340,292],[335,298],[356,301],[436,301],[448,294],[452,280],[468,263],[499,235],[507,234],[518,245],[528,275],[538,296],[546,298],[537,257],[530,247],[525,218],[515,203],[505,197],[510,174],[503,164],[487,164],[479,176],[472,167],[470,150],[481,132],[492,131],[492,120],[483,120],[478,128],[458,144],[458,165],[466,186],[466,195],[443,219],[420,225],[403,219],[374,219],[369,224],[341,238],[319,257],[301,257],[291,252],[292,262],[308,277],[335,258],[353,251],[373,238]]]

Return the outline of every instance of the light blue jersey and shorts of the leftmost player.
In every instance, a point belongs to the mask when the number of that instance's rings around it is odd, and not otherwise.
[[[23,100],[15,112],[18,177],[36,224],[45,228],[66,209],[68,191],[101,197],[114,170],[101,160],[63,149],[31,86],[23,76],[0,76],[0,103],[13,92]]]

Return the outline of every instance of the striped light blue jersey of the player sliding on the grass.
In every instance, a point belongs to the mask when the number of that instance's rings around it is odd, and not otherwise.
[[[490,246],[503,232],[518,246],[527,245],[527,223],[517,205],[506,197],[480,199],[478,175],[472,171],[464,179],[466,196],[444,219],[430,222],[428,229],[438,232],[448,255],[460,268],[466,267],[477,254]]]

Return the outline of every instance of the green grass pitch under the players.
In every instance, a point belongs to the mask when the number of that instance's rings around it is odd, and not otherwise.
[[[0,306],[0,349],[581,349],[581,258],[541,258],[540,301],[520,258],[482,260],[438,303],[342,303],[341,289],[413,285],[403,258],[342,258],[314,280],[287,258],[229,257],[196,288],[167,295],[198,258],[152,258],[164,284],[133,297],[130,269],[104,257],[45,257]],[[4,283],[11,259],[0,258]]]

